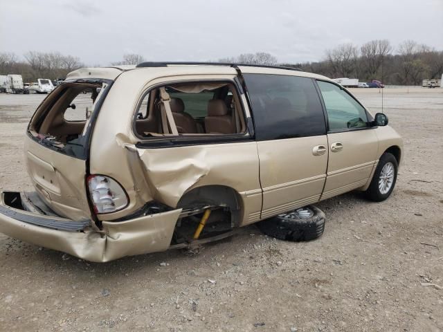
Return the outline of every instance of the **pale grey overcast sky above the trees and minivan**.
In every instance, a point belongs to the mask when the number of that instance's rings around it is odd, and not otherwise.
[[[279,62],[404,39],[443,50],[443,0],[0,0],[0,52],[59,51],[88,65],[124,53],[206,61],[269,52]]]

